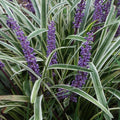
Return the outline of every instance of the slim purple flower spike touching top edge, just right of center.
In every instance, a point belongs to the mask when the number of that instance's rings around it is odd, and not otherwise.
[[[80,28],[80,23],[84,17],[84,9],[85,9],[85,0],[81,0],[81,2],[77,5],[76,14],[75,14],[75,21],[73,22],[75,33],[77,34],[78,28]]]

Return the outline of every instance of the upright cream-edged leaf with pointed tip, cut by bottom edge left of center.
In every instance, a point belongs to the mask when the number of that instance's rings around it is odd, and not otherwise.
[[[42,98],[43,95],[37,97],[34,103],[34,120],[43,120],[42,117]]]

